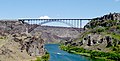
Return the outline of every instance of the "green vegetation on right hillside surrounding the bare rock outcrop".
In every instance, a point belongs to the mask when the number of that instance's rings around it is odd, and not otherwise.
[[[60,45],[60,48],[64,51],[74,54],[80,54],[91,58],[103,59],[103,60],[120,60],[120,20],[93,20],[85,26],[87,30],[80,34],[77,41],[82,41],[88,34],[100,34],[101,38],[105,39],[109,36],[109,41],[106,44],[106,48],[109,48],[109,52],[102,52],[96,50],[87,50],[80,46]],[[74,42],[74,41],[73,41]],[[90,47],[90,46],[89,46]]]

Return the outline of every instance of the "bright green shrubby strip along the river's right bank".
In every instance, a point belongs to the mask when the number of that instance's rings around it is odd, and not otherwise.
[[[60,45],[60,49],[67,51],[73,54],[80,54],[83,56],[91,57],[93,59],[100,59],[101,61],[119,61],[120,54],[113,53],[113,52],[101,52],[101,51],[94,51],[94,50],[86,50],[81,47],[76,46],[65,46]]]

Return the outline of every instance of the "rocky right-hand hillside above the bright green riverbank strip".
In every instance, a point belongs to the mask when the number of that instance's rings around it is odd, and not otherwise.
[[[113,18],[113,20],[111,20]],[[116,19],[114,19],[116,18]],[[120,14],[113,13],[100,18],[95,18],[84,28],[86,29],[76,40],[69,40],[67,44],[80,45],[84,48],[98,49],[120,44]],[[114,45],[115,44],[115,45]],[[99,48],[96,47],[99,46]],[[94,48],[92,46],[95,46]]]

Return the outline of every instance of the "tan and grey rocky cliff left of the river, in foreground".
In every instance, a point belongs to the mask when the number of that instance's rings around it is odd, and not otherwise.
[[[45,54],[40,32],[26,33],[28,24],[0,21],[0,61],[30,61]]]

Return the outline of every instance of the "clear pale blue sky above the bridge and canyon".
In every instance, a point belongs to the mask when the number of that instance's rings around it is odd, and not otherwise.
[[[110,12],[120,13],[120,0],[0,0],[0,19],[91,19]]]

